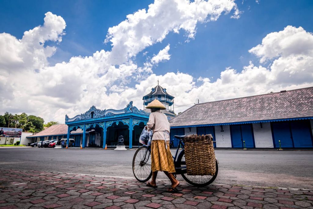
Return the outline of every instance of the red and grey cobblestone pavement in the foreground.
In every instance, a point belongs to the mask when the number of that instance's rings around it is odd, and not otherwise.
[[[290,180],[292,181],[292,180]],[[0,209],[12,208],[312,208],[313,191],[169,181],[146,187],[133,178],[0,169]]]

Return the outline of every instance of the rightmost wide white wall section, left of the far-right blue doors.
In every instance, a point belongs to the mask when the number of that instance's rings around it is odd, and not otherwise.
[[[273,136],[271,130],[271,123],[253,123],[253,134],[256,148],[273,148]]]

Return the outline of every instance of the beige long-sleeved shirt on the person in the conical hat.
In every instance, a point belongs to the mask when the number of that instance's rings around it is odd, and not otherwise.
[[[164,131],[170,132],[170,123],[167,120],[167,117],[160,110],[156,110],[151,113],[149,116],[149,121],[147,123],[148,131],[153,131],[152,140],[170,140],[169,134]]]

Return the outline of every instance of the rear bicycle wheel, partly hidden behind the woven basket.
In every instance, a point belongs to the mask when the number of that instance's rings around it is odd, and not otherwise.
[[[185,162],[185,150],[182,150],[177,158],[177,164],[179,165],[179,167],[181,166],[185,166],[186,162]],[[194,186],[207,186],[209,184],[212,184],[212,182],[215,180],[217,174],[218,174],[218,163],[215,160],[215,164],[216,164],[216,171],[214,176],[211,175],[203,175],[203,176],[191,176],[188,175],[187,173],[182,174],[182,177],[189,183],[192,184]]]

